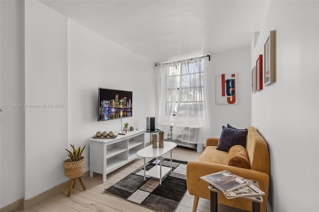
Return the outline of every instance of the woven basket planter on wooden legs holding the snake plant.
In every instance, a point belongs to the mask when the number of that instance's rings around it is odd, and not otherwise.
[[[84,167],[84,157],[81,157],[79,161],[72,161],[72,159],[67,159],[63,161],[64,164],[64,175],[70,179],[76,179],[83,175],[85,171]]]

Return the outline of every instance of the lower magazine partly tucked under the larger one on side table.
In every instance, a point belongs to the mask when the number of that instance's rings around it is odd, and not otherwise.
[[[260,196],[265,195],[265,192],[258,189],[253,184],[249,184],[247,186],[243,186],[237,189],[234,189],[230,192],[224,193],[227,199],[233,199],[236,197],[248,197],[248,196]]]

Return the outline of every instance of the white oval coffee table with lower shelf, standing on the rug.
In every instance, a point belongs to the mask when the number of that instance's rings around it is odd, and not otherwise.
[[[144,180],[145,176],[148,175],[160,179],[161,185],[162,177],[165,176],[165,174],[167,174],[169,171],[171,173],[171,150],[176,146],[177,144],[174,142],[164,141],[163,148],[153,148],[153,146],[150,145],[136,153],[138,156],[144,158]],[[161,165],[161,156],[166,154],[168,151],[170,151],[170,168]],[[152,169],[146,171],[146,158],[160,158],[160,165],[158,165],[156,160],[156,165]]]

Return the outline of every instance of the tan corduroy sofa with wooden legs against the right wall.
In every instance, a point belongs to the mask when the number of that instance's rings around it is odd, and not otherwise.
[[[216,149],[219,138],[207,138],[206,148],[199,160],[187,163],[186,181],[189,194],[194,196],[193,212],[196,212],[199,198],[210,199],[208,183],[201,180],[200,177],[223,170],[258,181],[260,189],[266,193],[263,196],[264,202],[261,204],[261,211],[266,212],[270,171],[268,147],[255,127],[249,126],[247,129],[246,150],[250,169],[228,166],[228,152]],[[252,211],[251,201],[240,198],[228,200],[221,193],[218,194],[218,203]]]

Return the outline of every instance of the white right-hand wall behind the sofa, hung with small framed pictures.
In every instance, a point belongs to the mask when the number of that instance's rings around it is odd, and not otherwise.
[[[252,95],[268,143],[273,212],[319,211],[319,1],[272,1],[251,67],[276,30],[276,83]]]

